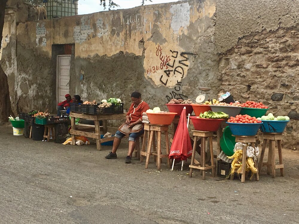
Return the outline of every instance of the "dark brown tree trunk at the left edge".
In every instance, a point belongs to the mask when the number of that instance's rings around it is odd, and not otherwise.
[[[7,0],[0,0],[0,41],[2,41],[6,2]],[[8,116],[11,112],[12,110],[10,104],[7,76],[0,64],[0,122],[8,122]]]

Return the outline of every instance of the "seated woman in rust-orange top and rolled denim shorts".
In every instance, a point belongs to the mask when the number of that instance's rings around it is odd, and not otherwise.
[[[142,123],[142,113],[149,109],[149,105],[141,100],[141,94],[134,92],[131,94],[132,104],[126,116],[126,123],[121,125],[115,133],[113,141],[112,152],[110,152],[106,159],[117,159],[116,150],[120,144],[123,136],[129,134],[129,151],[126,157],[126,163],[131,163],[132,153],[135,149],[136,138],[144,133],[144,125]]]

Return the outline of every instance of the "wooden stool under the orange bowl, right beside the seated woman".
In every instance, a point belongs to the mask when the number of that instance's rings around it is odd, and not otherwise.
[[[161,154],[161,132],[164,131],[165,135],[165,144],[166,144],[166,153],[167,154]],[[157,132],[157,147],[155,144],[155,132]],[[147,151],[145,151],[146,146],[146,140],[148,136],[148,144],[147,144]],[[153,149],[154,151],[151,151],[153,143]],[[157,148],[157,151],[156,151]],[[142,149],[140,152],[140,161],[143,162],[144,157],[147,157],[145,162],[145,168],[148,168],[149,164],[149,157],[155,156],[157,157],[157,167],[158,170],[160,170],[160,164],[162,158],[167,158],[167,165],[168,168],[170,168],[170,160],[168,158],[169,156],[169,143],[168,143],[168,125],[152,125],[152,124],[144,124],[144,137],[142,142]]]

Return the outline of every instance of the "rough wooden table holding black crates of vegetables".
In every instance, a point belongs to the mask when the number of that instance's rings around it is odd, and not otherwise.
[[[75,145],[75,136],[80,135],[84,137],[94,138],[97,142],[97,150],[101,150],[101,143],[109,142],[114,140],[114,136],[101,139],[100,128],[103,128],[103,134],[107,132],[107,120],[125,120],[125,113],[121,114],[84,114],[84,113],[70,113],[71,117],[71,135],[72,135],[72,145]],[[76,125],[75,119],[89,119],[94,121],[94,125]],[[99,121],[103,121],[103,126],[99,125]],[[91,133],[95,132],[95,133]]]

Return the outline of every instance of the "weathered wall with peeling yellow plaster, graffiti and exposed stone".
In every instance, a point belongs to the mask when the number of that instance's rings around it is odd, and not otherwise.
[[[299,149],[298,11],[291,0],[189,0],[17,25],[11,13],[1,64],[15,110],[55,110],[52,45],[74,44],[72,95],[120,97],[127,109],[138,90],[166,109],[172,98],[195,100],[198,86],[212,98],[228,90],[289,114],[285,145]]]

